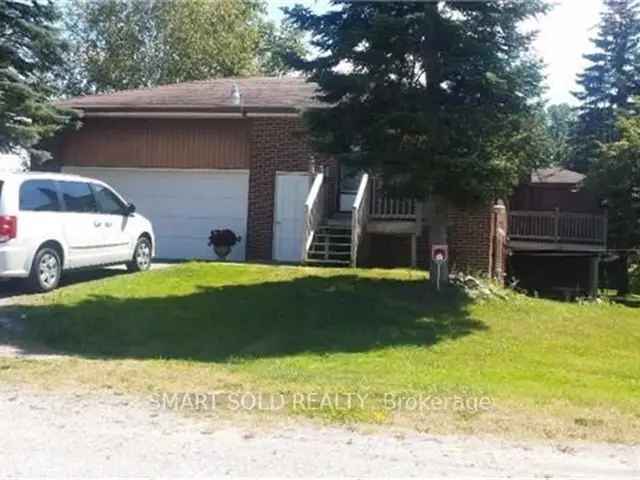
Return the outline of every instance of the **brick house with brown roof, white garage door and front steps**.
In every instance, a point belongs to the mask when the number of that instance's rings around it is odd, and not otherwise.
[[[53,164],[112,184],[152,219],[158,256],[210,258],[209,230],[243,237],[235,260],[420,266],[433,205],[387,198],[374,178],[316,154],[300,78],[217,79],[78,97],[82,127]],[[447,208],[450,263],[500,275],[506,214]]]

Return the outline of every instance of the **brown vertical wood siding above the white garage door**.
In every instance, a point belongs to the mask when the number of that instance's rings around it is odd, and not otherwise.
[[[248,169],[249,122],[90,118],[54,155],[83,167]]]

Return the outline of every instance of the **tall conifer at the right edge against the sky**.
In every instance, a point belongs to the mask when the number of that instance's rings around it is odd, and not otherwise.
[[[640,4],[637,0],[605,0],[595,52],[578,76],[581,101],[572,135],[571,167],[587,172],[600,154],[600,144],[618,139],[616,118],[640,94]]]

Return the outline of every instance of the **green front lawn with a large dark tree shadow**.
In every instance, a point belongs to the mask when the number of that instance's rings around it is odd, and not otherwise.
[[[640,309],[437,294],[423,274],[184,264],[29,300],[28,339],[75,358],[0,360],[0,381],[139,393],[361,393],[290,409],[429,431],[640,438]],[[4,365],[4,366],[3,366]],[[391,410],[389,395],[491,408]]]

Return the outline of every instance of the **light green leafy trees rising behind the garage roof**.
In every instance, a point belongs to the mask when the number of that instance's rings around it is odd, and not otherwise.
[[[262,0],[70,0],[65,12],[69,95],[282,74],[286,52],[305,52]]]

